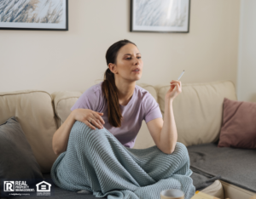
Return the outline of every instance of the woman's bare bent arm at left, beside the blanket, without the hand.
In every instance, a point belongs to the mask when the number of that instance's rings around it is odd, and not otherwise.
[[[56,155],[59,155],[67,150],[69,134],[74,122],[76,121],[74,119],[74,111],[69,114],[65,122],[61,124],[61,127],[58,128],[58,130],[53,135],[52,148]]]

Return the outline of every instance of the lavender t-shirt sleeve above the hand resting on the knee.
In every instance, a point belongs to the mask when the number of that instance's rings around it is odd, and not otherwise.
[[[71,111],[75,109],[90,109],[92,111],[96,111],[96,103],[98,101],[98,96],[92,87],[88,88],[84,91],[83,94],[79,97],[79,99],[75,102],[75,104],[70,109]]]

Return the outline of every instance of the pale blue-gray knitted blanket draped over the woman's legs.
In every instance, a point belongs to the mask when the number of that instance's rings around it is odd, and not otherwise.
[[[161,190],[183,190],[185,199],[195,195],[189,153],[177,142],[166,154],[154,145],[131,149],[108,129],[95,130],[76,121],[67,151],[55,160],[50,175],[55,185],[70,191],[89,190],[108,199],[156,199]]]

